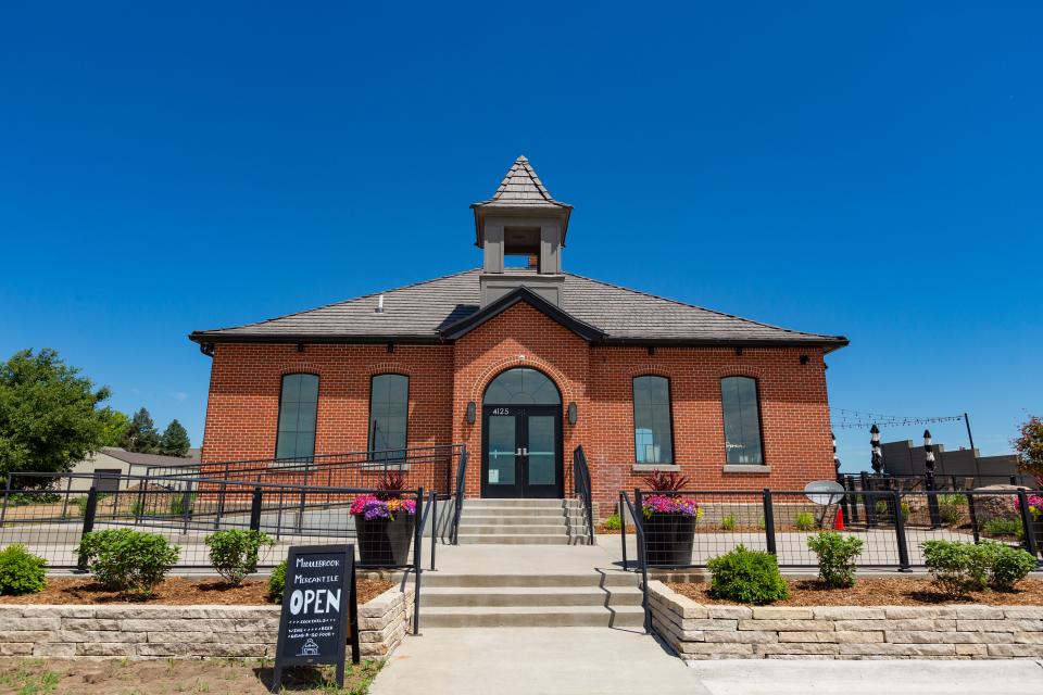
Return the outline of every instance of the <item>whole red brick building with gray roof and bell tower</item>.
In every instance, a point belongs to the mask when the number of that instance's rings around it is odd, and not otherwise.
[[[824,356],[845,338],[563,271],[571,207],[525,157],[472,208],[480,269],[193,332],[213,358],[203,462],[460,443],[468,496],[561,497],[582,445],[601,503],[650,470],[833,477]]]

